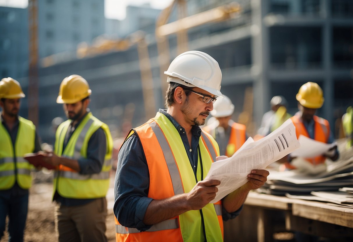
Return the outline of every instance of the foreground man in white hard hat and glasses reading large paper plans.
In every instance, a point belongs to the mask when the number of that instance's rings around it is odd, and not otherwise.
[[[217,180],[203,180],[219,156],[199,126],[223,98],[221,69],[206,53],[177,56],[168,75],[167,110],[132,129],[115,176],[116,241],[222,241],[223,217],[235,217],[268,171],[253,170],[244,186],[216,204]]]

